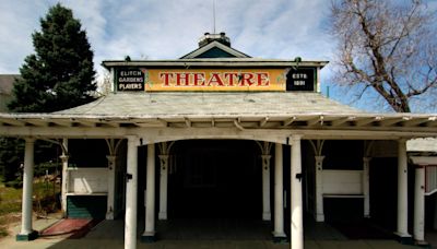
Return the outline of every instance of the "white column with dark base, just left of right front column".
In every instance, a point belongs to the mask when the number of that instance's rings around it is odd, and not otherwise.
[[[284,174],[282,144],[274,147],[274,230],[273,236],[285,238],[284,233]]]

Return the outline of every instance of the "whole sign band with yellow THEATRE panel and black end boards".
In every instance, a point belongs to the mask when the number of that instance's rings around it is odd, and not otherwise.
[[[316,70],[145,69],[116,71],[117,91],[314,91]]]

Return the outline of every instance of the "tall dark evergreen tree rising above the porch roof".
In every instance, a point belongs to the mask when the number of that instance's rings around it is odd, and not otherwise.
[[[9,104],[12,111],[50,112],[94,99],[93,51],[70,9],[60,3],[40,20],[32,36],[35,54],[25,58]]]

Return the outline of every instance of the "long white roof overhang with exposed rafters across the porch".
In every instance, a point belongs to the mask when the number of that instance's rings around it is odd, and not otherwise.
[[[437,138],[437,115],[296,114],[287,116],[84,116],[0,114],[0,135],[36,138],[122,138],[129,134],[300,134],[304,139]],[[165,137],[165,135],[164,135]],[[200,137],[199,137],[200,138]],[[203,138],[203,137],[202,137]],[[211,137],[212,138],[212,137]],[[215,137],[214,137],[215,138]]]

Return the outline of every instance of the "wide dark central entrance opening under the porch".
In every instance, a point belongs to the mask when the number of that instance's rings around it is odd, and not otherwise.
[[[253,141],[178,141],[169,175],[175,218],[261,217],[260,150]]]

